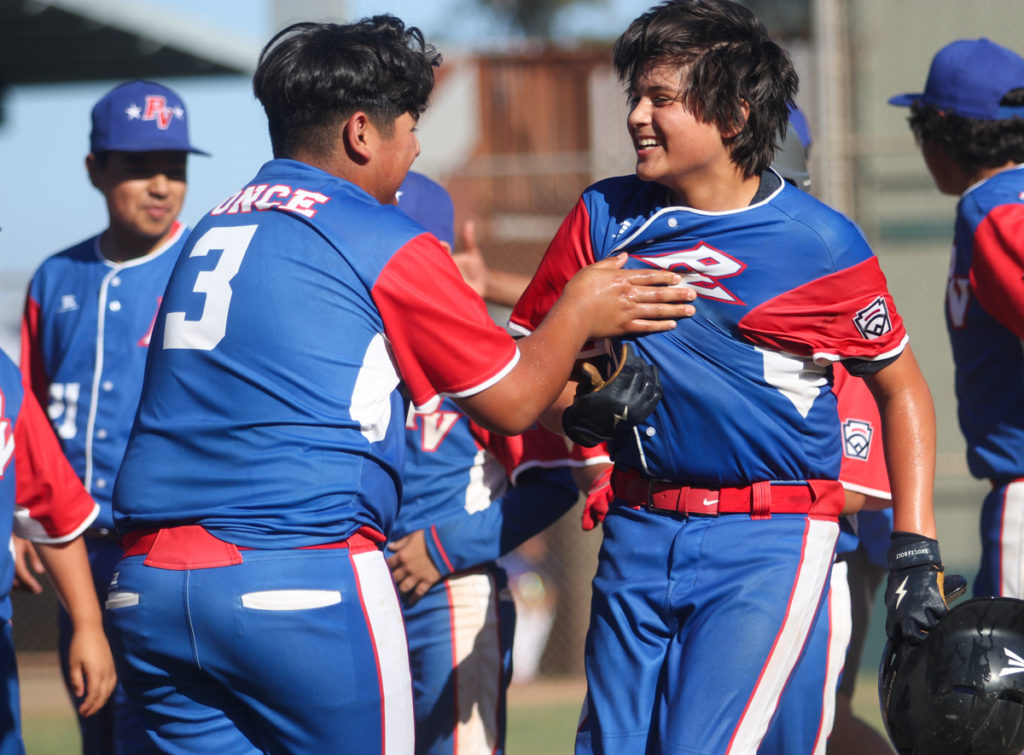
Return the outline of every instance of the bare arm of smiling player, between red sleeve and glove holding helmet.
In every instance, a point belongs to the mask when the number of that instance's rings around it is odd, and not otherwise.
[[[935,408],[909,347],[868,386],[882,416],[893,529],[935,538]]]

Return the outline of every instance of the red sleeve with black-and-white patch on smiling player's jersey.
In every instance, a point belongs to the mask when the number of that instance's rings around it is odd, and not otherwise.
[[[756,306],[739,331],[759,346],[828,362],[888,359],[906,343],[876,257]]]

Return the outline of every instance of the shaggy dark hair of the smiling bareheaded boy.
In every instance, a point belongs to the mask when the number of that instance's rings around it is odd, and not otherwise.
[[[726,144],[743,174],[771,165],[799,82],[788,53],[749,8],[731,0],[669,0],[630,25],[613,60],[629,88],[658,66],[678,67],[680,96],[694,117],[721,131],[740,128]]]

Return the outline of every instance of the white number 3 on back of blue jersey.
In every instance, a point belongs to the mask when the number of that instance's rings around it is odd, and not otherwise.
[[[255,225],[234,225],[210,228],[196,242],[189,257],[205,257],[220,251],[213,269],[202,270],[196,277],[193,291],[206,294],[206,303],[199,320],[185,320],[184,312],[167,312],[164,326],[164,348],[214,348],[227,330],[227,309],[231,304],[231,279],[242,266],[242,258],[252,243]]]

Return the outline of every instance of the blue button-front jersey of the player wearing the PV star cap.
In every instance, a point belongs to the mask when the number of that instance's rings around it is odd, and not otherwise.
[[[65,455],[111,529],[150,337],[167,279],[187,236],[176,222],[150,254],[112,262],[99,236],[40,265],[22,322],[22,371],[46,408]]]

